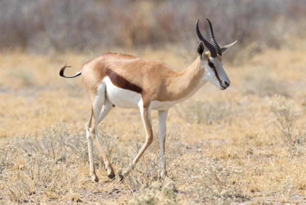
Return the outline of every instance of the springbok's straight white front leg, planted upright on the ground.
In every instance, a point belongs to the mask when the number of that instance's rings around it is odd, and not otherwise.
[[[166,161],[165,161],[165,140],[166,140],[166,119],[169,110],[158,111],[158,125],[159,125],[159,134],[160,134],[160,149],[161,149],[161,162],[162,170],[161,177],[165,179],[167,176],[166,171]]]

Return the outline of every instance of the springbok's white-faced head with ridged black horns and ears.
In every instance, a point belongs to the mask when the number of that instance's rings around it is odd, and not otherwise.
[[[203,36],[201,35],[198,27],[199,19],[197,19],[196,34],[200,39],[200,43],[197,46],[197,53],[199,54],[200,64],[206,70],[204,80],[212,83],[216,87],[223,90],[230,86],[231,81],[227,77],[223,69],[222,54],[225,53],[228,49],[230,49],[232,45],[234,45],[237,41],[220,48],[214,37],[212,24],[209,19],[207,20],[209,22],[210,27],[209,33],[211,43],[205,40],[205,38],[203,38]],[[204,52],[205,47],[209,50],[209,52]]]

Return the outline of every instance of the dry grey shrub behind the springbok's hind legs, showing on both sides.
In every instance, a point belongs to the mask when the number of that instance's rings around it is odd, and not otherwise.
[[[106,154],[112,159],[114,156],[111,154],[118,138],[107,133],[105,127],[105,122],[98,126],[98,138]],[[85,165],[88,163],[88,145],[85,132],[74,130],[70,134],[69,127],[66,127],[63,121],[57,122],[55,126],[41,129],[37,134],[15,136],[13,144],[24,154],[41,153],[46,157],[57,158],[68,164],[79,162]],[[94,158],[98,166],[104,165],[95,146]]]

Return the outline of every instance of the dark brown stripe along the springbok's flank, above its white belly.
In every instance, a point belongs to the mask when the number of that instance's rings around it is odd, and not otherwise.
[[[117,87],[120,87],[122,89],[129,89],[131,91],[134,91],[134,92],[140,93],[140,94],[142,93],[141,87],[138,87],[137,85],[135,85],[133,83],[130,83],[125,78],[116,74],[115,72],[107,69],[106,73],[107,73],[108,77],[110,78],[110,80],[112,81],[112,83],[114,85],[116,85]]]

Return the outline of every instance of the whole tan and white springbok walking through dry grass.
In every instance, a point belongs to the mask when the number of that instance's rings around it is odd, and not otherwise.
[[[209,19],[209,43],[201,35],[196,21],[196,34],[200,39],[197,46],[198,58],[183,72],[176,73],[164,62],[143,60],[135,56],[106,53],[85,63],[82,70],[74,76],[64,76],[62,67],[60,76],[74,78],[82,74],[84,86],[89,93],[92,110],[89,122],[86,124],[86,134],[89,152],[90,175],[92,181],[98,181],[95,172],[92,141],[101,154],[109,178],[115,177],[115,172],[103,150],[97,136],[98,124],[115,107],[139,108],[146,131],[146,140],[133,162],[122,173],[121,179],[129,174],[139,161],[147,147],[152,143],[152,123],[150,112],[158,110],[159,138],[161,152],[161,177],[167,175],[165,164],[165,133],[166,118],[169,108],[190,98],[201,86],[208,81],[224,90],[230,86],[223,70],[222,54],[232,47],[234,43],[220,48],[217,44],[213,28]],[[204,52],[207,47],[209,52]]]

